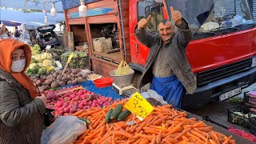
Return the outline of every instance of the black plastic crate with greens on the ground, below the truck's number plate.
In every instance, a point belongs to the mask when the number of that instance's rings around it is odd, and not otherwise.
[[[236,123],[241,126],[249,126],[249,118],[244,115],[248,114],[250,110],[248,110],[245,106],[239,105],[230,107],[228,109],[228,122]],[[243,115],[236,114],[236,112],[240,112]]]

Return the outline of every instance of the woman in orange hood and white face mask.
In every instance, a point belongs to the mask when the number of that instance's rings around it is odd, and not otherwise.
[[[40,143],[46,96],[24,74],[30,59],[30,46],[0,40],[0,143]]]

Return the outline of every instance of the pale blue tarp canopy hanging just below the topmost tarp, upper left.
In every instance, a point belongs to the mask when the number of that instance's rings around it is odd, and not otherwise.
[[[2,1],[1,1],[2,2]],[[45,13],[33,12],[27,13],[19,10],[0,9],[0,21],[18,22],[31,26],[43,26],[45,20]],[[58,22],[64,22],[64,14],[58,13],[56,17],[50,16],[47,13],[48,24],[56,24]]]

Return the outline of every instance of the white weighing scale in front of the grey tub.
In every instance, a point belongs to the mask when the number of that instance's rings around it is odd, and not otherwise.
[[[133,85],[129,86],[117,86],[115,83],[112,84],[112,89],[124,98],[129,98],[131,94],[139,92]]]

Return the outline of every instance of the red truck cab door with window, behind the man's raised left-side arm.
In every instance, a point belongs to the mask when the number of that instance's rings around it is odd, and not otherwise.
[[[144,66],[150,49],[138,42],[134,35],[134,29],[142,18],[152,16],[146,30],[151,33],[158,32],[158,24],[164,18],[163,4],[152,1],[134,0],[130,3],[130,53],[132,62]]]

